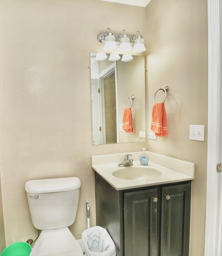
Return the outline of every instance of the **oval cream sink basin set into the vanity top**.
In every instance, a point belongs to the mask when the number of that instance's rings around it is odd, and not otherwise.
[[[124,180],[148,180],[161,176],[161,172],[150,167],[123,167],[112,173],[116,178]]]

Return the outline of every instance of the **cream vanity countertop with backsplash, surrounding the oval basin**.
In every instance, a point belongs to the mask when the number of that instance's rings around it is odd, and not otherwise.
[[[141,152],[126,152],[121,154],[92,156],[92,168],[116,190],[140,188],[159,184],[169,184],[194,179],[194,163],[160,154],[155,154],[149,151],[146,153],[149,156],[150,160],[148,167],[154,168],[161,172],[161,175],[157,178],[151,178],[146,180],[126,180],[116,178],[112,175],[112,173],[116,170],[124,170],[126,168],[137,167],[147,168],[147,166],[141,166],[140,162],[138,161]],[[122,162],[125,154],[132,154],[131,158],[134,159],[134,166],[118,167],[118,163]]]

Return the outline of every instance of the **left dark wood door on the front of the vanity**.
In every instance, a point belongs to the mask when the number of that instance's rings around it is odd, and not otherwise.
[[[124,193],[125,256],[158,256],[157,188]]]

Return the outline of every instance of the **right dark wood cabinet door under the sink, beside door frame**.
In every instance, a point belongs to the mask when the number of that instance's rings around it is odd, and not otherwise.
[[[161,256],[189,256],[191,184],[162,188]]]

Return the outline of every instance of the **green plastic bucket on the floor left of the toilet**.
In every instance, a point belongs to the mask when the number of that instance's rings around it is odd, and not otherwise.
[[[31,245],[26,242],[17,242],[6,247],[0,256],[29,256]]]

